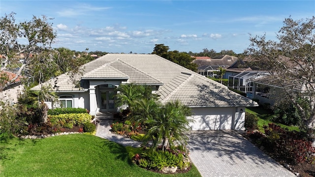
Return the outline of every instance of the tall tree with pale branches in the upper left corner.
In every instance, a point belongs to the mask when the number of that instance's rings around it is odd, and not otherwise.
[[[19,74],[33,77],[38,83],[53,75],[56,65],[51,55],[51,44],[56,38],[51,18],[33,16],[31,21],[15,23],[15,13],[0,18],[0,53],[8,56],[9,63],[22,61]],[[24,38],[27,44],[21,44],[18,38]],[[17,77],[18,77],[17,75]]]

